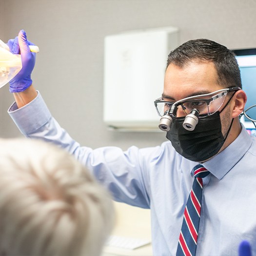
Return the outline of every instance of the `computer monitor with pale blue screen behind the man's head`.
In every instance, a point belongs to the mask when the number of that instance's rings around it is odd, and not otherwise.
[[[245,110],[256,105],[256,48],[233,50],[241,72],[242,89],[247,95]],[[256,107],[251,108],[246,114],[256,119]],[[256,128],[252,121],[242,116],[241,123],[245,126],[248,133],[256,136]]]

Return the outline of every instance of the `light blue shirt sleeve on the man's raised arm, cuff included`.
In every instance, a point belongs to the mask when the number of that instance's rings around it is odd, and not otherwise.
[[[93,150],[80,146],[51,116],[39,92],[33,101],[19,109],[14,102],[8,113],[24,136],[54,143],[73,154],[111,191],[115,200],[150,208],[148,158],[155,148],[140,150],[132,146],[124,152],[118,147]]]

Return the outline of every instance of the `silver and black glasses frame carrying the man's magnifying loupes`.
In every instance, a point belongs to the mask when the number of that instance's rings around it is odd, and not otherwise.
[[[240,87],[238,87],[238,86],[234,86],[234,87],[229,87],[229,88],[225,88],[225,89],[220,89],[220,90],[217,90],[217,91],[215,91],[215,92],[212,92],[212,93],[207,93],[207,94],[200,94],[200,95],[195,95],[195,96],[190,96],[190,97],[187,97],[187,98],[182,98],[182,99],[180,99],[180,100],[177,100],[176,102],[173,102],[173,101],[166,101],[166,100],[161,100],[162,99],[162,97],[160,97],[160,98],[157,98],[155,101],[154,101],[154,104],[155,104],[155,107],[156,107],[156,110],[157,110],[157,112],[158,112],[158,115],[160,116],[160,117],[162,117],[162,115],[160,114],[160,112],[158,111],[158,107],[157,107],[157,104],[159,103],[159,102],[161,102],[161,103],[168,103],[168,104],[172,104],[171,105],[171,107],[173,106],[173,105],[175,105],[175,106],[181,106],[182,107],[182,109],[183,109],[183,111],[185,112],[185,107],[183,106],[183,104],[182,103],[184,103],[185,101],[193,101],[195,98],[198,100],[198,101],[205,101],[206,103],[207,103],[207,106],[209,106],[209,104],[213,101],[213,100],[215,100],[216,98],[214,98],[214,97],[212,97],[212,98],[198,98],[198,97],[207,97],[207,96],[217,96],[217,95],[219,95],[220,93],[226,93],[226,95],[227,95],[227,93],[228,92],[234,92],[234,91],[238,91],[238,90],[241,90],[241,88]],[[226,95],[225,95],[225,97],[226,97]],[[218,97],[219,98],[219,97]],[[223,101],[224,102],[224,101]],[[222,103],[223,104],[223,103]],[[221,105],[222,105],[221,104]],[[221,107],[221,105],[219,106],[219,108]],[[169,108],[169,110],[166,110],[165,112],[164,112],[164,114],[163,114],[163,116],[164,115],[169,115],[169,113],[170,113],[170,109],[171,109],[171,107]],[[218,108],[218,109],[219,109]],[[218,109],[214,112],[214,113],[216,113],[217,111],[218,111]],[[212,114],[208,114],[208,116],[211,116],[211,115],[213,115],[214,113],[212,113]],[[185,114],[186,115],[188,115],[186,112],[185,112]]]

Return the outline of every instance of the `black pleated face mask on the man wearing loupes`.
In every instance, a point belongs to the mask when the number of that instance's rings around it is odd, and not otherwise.
[[[223,146],[234,120],[232,119],[226,138],[224,138],[219,113],[217,111],[211,116],[201,116],[194,131],[188,131],[182,126],[185,117],[175,118],[166,138],[184,158],[196,162],[211,158]]]

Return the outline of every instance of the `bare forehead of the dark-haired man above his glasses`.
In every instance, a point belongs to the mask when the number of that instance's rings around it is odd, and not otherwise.
[[[211,93],[223,86],[218,84],[213,62],[189,62],[183,67],[170,64],[165,72],[163,95],[172,100]]]

